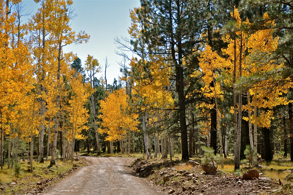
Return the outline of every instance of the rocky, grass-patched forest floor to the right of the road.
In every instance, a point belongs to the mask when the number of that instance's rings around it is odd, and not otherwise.
[[[266,164],[266,163],[264,163]],[[267,164],[266,164],[267,165]],[[284,168],[276,170],[274,168]],[[218,170],[215,175],[205,175],[201,165],[190,165],[168,159],[137,159],[132,170],[144,177],[144,181],[163,194],[198,194],[198,195],[247,195],[247,194],[291,194],[293,165],[289,163],[272,163],[258,168],[258,180],[240,180],[243,172],[235,174]],[[240,177],[239,177],[240,176]],[[289,177],[286,180],[285,177]],[[165,178],[165,181],[164,181]],[[279,181],[280,179],[280,181]]]

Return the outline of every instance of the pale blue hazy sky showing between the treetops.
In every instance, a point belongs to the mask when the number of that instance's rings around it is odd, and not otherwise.
[[[25,12],[32,12],[31,14],[34,14],[40,6],[33,0],[24,0],[23,3],[26,4]],[[128,37],[127,29],[131,25],[129,9],[139,7],[139,0],[74,0],[73,6],[77,17],[72,21],[72,30],[85,31],[91,38],[87,43],[63,47],[64,52],[76,53],[83,65],[88,54],[93,55],[103,65],[103,72],[105,71],[103,59],[107,56],[110,63],[107,68],[107,81],[112,84],[114,78],[118,79],[120,75],[117,62],[121,61],[121,57],[115,54],[117,45],[114,44],[113,38]],[[28,17],[23,18],[23,22],[26,22]],[[99,78],[100,75],[97,77]]]

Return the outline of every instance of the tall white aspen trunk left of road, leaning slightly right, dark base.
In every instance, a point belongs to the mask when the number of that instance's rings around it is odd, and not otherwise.
[[[53,148],[52,148],[52,156],[50,161],[50,166],[55,165],[56,151],[57,151],[57,136],[58,136],[58,127],[59,127],[59,114],[60,114],[60,63],[61,63],[61,42],[59,42],[58,49],[58,69],[57,69],[57,88],[58,93],[56,97],[56,117],[55,117],[55,131],[53,136]]]

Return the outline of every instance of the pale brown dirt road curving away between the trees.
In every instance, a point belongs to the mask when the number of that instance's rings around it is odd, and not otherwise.
[[[91,166],[82,167],[73,175],[61,180],[45,195],[159,195],[156,189],[149,187],[142,179],[133,175],[128,168],[131,158],[86,157]]]

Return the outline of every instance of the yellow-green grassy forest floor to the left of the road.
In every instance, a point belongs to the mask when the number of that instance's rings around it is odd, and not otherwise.
[[[89,165],[89,162],[86,158],[75,157],[73,163],[71,160],[67,160],[65,163],[56,161],[56,165],[52,168],[47,168],[50,165],[50,160],[41,164],[34,162],[33,173],[28,172],[30,168],[28,161],[19,161],[19,164],[21,172],[18,177],[15,177],[15,169],[8,169],[7,164],[0,170],[1,195],[39,194],[62,178],[71,175],[85,165]]]

